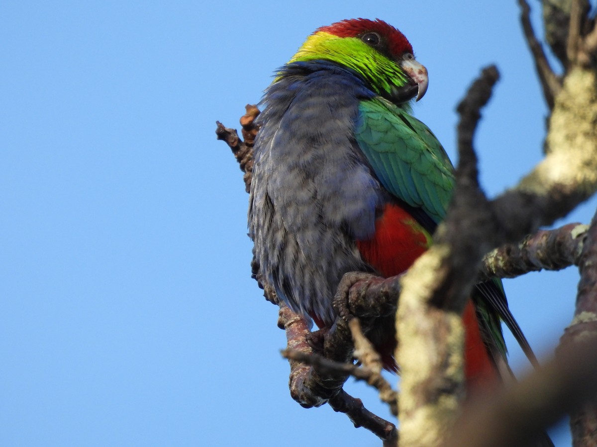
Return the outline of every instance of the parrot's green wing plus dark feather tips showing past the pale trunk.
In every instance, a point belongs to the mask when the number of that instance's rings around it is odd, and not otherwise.
[[[454,167],[426,125],[377,97],[359,104],[355,136],[384,188],[410,206],[422,209],[436,224],[445,218],[454,190]],[[501,281],[478,284],[473,300],[484,322],[485,339],[506,355],[501,318],[534,362],[533,352],[507,307]]]

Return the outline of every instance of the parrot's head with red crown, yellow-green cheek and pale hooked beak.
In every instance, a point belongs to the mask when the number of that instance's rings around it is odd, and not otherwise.
[[[427,69],[418,63],[404,34],[381,20],[355,18],[322,26],[290,60],[328,60],[359,73],[373,90],[396,104],[420,100]]]

